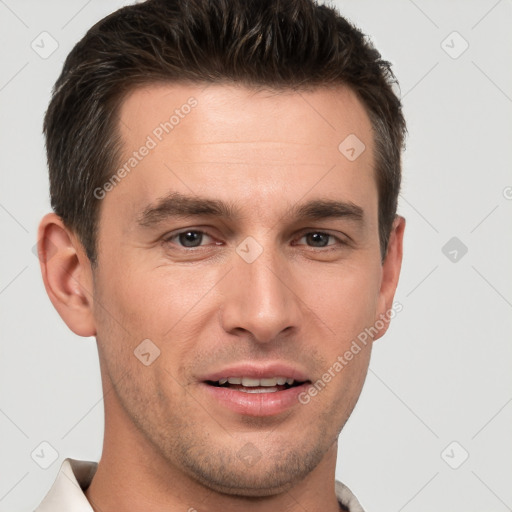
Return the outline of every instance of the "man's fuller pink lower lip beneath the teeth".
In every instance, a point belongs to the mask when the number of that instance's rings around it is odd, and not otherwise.
[[[202,383],[206,391],[221,405],[238,414],[247,416],[273,416],[299,404],[298,395],[309,387],[309,383],[274,391],[273,393],[245,393],[236,389],[211,386]]]

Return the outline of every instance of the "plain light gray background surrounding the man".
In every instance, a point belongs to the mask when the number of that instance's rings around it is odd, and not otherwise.
[[[63,458],[101,454],[95,341],[60,320],[32,248],[49,210],[51,87],[86,29],[124,3],[0,0],[0,512],[33,509]],[[512,510],[512,2],[337,5],[394,63],[409,126],[403,311],[375,345],[337,477],[369,512]],[[43,31],[59,45],[46,59],[31,48]],[[469,44],[458,58],[453,31]],[[468,248],[456,262],[442,252],[454,236]],[[46,470],[31,458],[43,441],[58,452]]]

